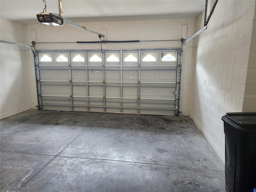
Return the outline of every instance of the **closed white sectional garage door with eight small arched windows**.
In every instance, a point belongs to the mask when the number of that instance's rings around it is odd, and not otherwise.
[[[37,50],[39,109],[178,114],[180,49]]]

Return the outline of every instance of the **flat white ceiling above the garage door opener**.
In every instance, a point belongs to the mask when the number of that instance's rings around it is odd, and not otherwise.
[[[59,13],[58,0],[46,0],[46,10]],[[62,0],[63,17],[73,22],[195,18],[204,0]],[[0,0],[0,16],[21,24],[37,24],[42,0]]]

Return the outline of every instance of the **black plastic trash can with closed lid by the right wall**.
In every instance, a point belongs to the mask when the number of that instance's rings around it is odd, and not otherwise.
[[[225,181],[227,192],[256,188],[256,112],[226,113]]]

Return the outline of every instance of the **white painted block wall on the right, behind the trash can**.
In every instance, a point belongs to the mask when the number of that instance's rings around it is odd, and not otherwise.
[[[209,13],[209,10],[208,10]],[[196,30],[204,26],[204,13]],[[218,1],[208,28],[195,38],[191,117],[224,161],[221,117],[256,111],[255,1]]]

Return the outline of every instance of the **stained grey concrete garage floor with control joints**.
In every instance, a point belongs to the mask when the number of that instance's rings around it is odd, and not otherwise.
[[[189,117],[28,110],[1,120],[1,192],[224,192]]]

